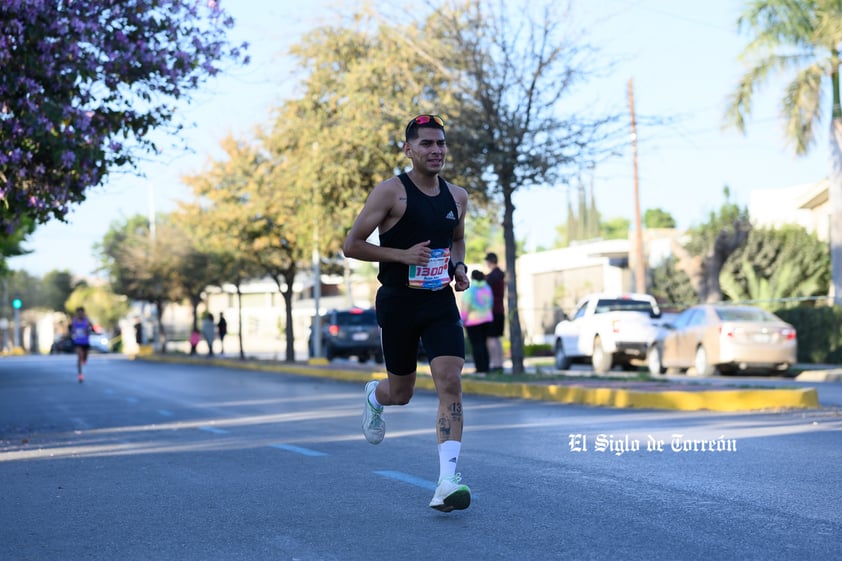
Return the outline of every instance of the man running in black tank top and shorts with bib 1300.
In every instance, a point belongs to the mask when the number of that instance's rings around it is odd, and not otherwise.
[[[355,134],[359,131],[349,129],[349,139]],[[453,292],[470,286],[463,262],[468,193],[439,175],[447,154],[440,116],[409,121],[403,151],[412,169],[374,187],[343,246],[346,257],[380,264],[375,307],[388,377],[365,386],[363,434],[379,444],[386,434],[384,406],[409,403],[420,339],[439,400],[439,478],[429,506],[450,512],[471,504],[471,490],[456,473],[465,334]],[[375,230],[379,244],[367,241]]]

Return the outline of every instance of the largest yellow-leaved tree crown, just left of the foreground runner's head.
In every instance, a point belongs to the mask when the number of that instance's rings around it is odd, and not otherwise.
[[[310,197],[318,193],[320,216],[334,226],[320,231],[335,232],[337,249],[374,184],[407,164],[401,146],[409,118],[452,105],[441,48],[414,24],[381,23],[363,11],[314,29],[291,49],[303,93],[278,109],[263,143],[285,155],[287,173],[308,182],[302,188]],[[449,117],[451,140],[459,125]],[[461,162],[449,160],[447,176],[461,184]],[[337,232],[337,224],[345,228]]]

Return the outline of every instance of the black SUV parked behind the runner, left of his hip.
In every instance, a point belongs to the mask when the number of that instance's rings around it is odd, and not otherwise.
[[[336,357],[356,356],[360,362],[374,358],[383,362],[380,347],[380,326],[373,309],[351,308],[331,310],[321,317],[322,356],[328,360]],[[310,325],[310,356],[313,356],[313,326]]]

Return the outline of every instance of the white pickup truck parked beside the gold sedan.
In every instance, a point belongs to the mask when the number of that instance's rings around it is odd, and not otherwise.
[[[615,365],[632,369],[632,360],[646,358],[660,317],[649,294],[592,294],[580,301],[572,318],[556,325],[555,367],[591,362],[599,374]]]

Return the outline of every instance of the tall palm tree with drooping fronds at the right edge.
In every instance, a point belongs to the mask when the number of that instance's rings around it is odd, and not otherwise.
[[[753,0],[738,25],[754,39],[741,58],[749,61],[732,94],[729,124],[745,131],[755,90],[770,75],[791,72],[781,103],[786,136],[795,153],[806,154],[816,141],[828,90],[830,123],[830,260],[834,301],[842,299],[842,106],[839,64],[842,45],[842,1]],[[826,113],[825,113],[826,115]]]

